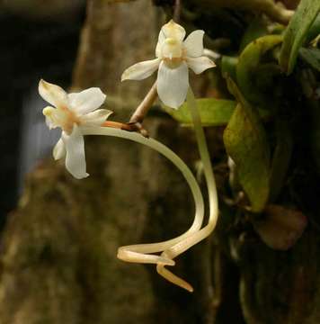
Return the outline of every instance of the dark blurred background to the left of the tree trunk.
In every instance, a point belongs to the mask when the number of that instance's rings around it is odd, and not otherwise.
[[[44,123],[38,82],[70,85],[84,17],[84,0],[0,2],[0,229],[24,175],[57,141]]]

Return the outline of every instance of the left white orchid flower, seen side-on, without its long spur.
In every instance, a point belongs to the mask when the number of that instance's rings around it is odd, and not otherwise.
[[[76,179],[87,177],[84,155],[84,126],[101,126],[111,114],[98,109],[106,98],[100,88],[92,87],[80,93],[67,94],[60,86],[40,80],[39,94],[52,104],[43,109],[49,129],[61,128],[61,139],[53,148],[53,157],[66,158],[66,167]]]

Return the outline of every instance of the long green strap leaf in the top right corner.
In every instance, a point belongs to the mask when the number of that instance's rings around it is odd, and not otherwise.
[[[280,51],[280,67],[288,75],[296,65],[298,50],[320,10],[320,0],[301,0],[284,33]]]

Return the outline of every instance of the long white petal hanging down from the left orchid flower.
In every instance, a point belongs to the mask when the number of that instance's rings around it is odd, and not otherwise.
[[[62,140],[66,146],[66,168],[76,179],[87,177],[84,154],[84,136],[79,128],[74,125],[71,135],[62,132]]]

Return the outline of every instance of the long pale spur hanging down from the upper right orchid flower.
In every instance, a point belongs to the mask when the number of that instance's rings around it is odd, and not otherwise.
[[[213,231],[213,229],[215,229],[218,220],[218,193],[217,193],[216,181],[213,175],[206,137],[201,125],[200,113],[198,112],[197,103],[195,101],[191,88],[189,89],[187,94],[187,104],[191,111],[191,117],[194,125],[194,132],[197,138],[198,148],[199,148],[200,157],[203,164],[204,175],[206,178],[208,192],[209,192],[209,222],[207,226],[205,226],[203,229],[191,233],[189,236],[182,239],[176,245],[168,248],[162,253],[161,255],[162,257],[167,257],[170,259],[179,256],[188,248],[199,243],[202,239],[207,238],[210,235],[210,233]],[[177,277],[176,275],[173,275],[173,273],[167,270],[164,267],[164,265],[158,264],[156,266],[156,270],[159,275],[163,275],[168,281],[172,282],[173,284],[177,284],[182,288],[192,292],[193,289],[190,284],[188,284],[181,278]]]

